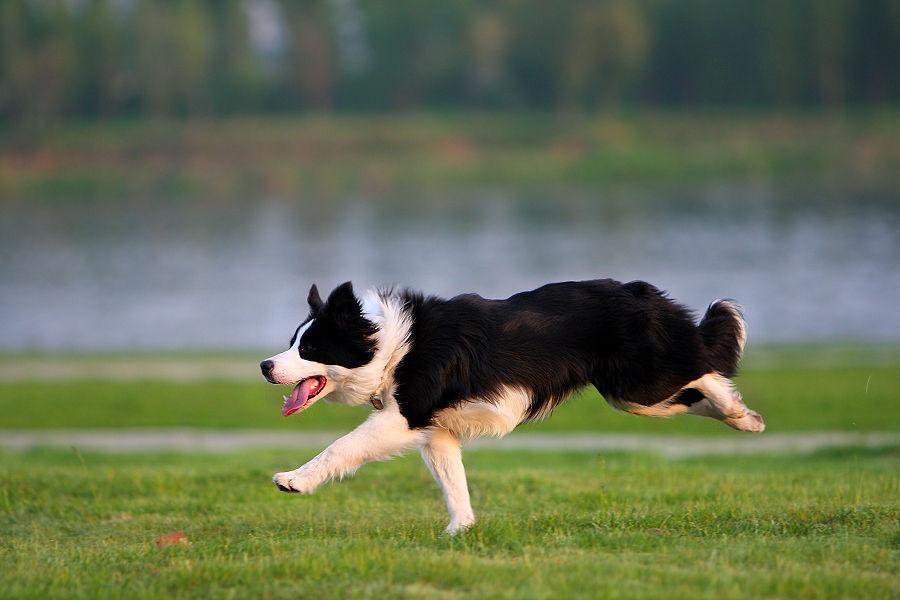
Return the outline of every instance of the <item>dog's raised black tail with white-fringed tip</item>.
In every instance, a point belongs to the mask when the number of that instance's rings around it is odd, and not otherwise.
[[[715,300],[700,320],[700,338],[706,346],[712,368],[732,377],[747,341],[747,327],[741,307],[731,300]]]

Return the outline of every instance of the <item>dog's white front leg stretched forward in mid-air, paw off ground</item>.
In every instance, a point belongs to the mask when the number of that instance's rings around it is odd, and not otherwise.
[[[373,412],[359,427],[338,439],[308,463],[272,481],[283,492],[308,494],[336,477],[352,474],[372,460],[384,460],[425,443],[426,433],[410,429],[396,403]]]

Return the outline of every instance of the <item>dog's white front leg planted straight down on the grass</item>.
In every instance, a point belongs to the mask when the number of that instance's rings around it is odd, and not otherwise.
[[[444,493],[444,502],[450,513],[450,524],[447,525],[446,532],[454,535],[471,527],[475,523],[475,514],[469,501],[459,438],[446,429],[436,429],[422,446],[421,453],[422,460],[428,465],[428,470]]]

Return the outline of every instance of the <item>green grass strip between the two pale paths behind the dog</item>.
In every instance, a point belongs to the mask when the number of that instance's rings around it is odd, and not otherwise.
[[[771,367],[737,378],[767,431],[900,430],[900,367]],[[320,402],[281,417],[284,390],[265,383],[200,381],[0,382],[0,429],[203,427],[344,430],[364,409]],[[651,419],[610,408],[593,388],[532,431],[652,432],[733,435],[710,419]]]

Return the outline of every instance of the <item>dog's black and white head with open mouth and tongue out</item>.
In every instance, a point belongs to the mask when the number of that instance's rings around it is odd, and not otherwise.
[[[259,365],[269,383],[294,386],[284,398],[285,417],[334,392],[330,399],[340,402],[344,383],[372,362],[377,349],[378,329],[364,315],[349,281],[324,302],[313,285],[307,302],[309,316],[297,327],[290,347]]]

